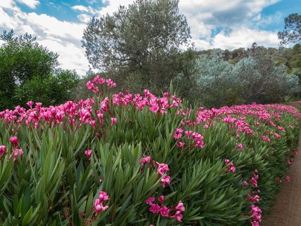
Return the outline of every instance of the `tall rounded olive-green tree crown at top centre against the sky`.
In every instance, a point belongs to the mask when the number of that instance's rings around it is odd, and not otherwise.
[[[136,0],[113,15],[92,18],[84,30],[89,63],[120,84],[132,80],[146,88],[167,90],[181,68],[190,29],[178,0]],[[127,87],[126,87],[127,88]]]

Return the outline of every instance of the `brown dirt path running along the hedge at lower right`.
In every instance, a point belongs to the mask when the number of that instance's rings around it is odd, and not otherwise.
[[[260,226],[301,226],[301,134],[298,154],[290,166],[290,181],[282,180],[281,191],[277,196],[271,214],[262,217]]]

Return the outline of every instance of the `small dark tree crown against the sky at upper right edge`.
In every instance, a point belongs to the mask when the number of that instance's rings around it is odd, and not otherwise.
[[[280,44],[300,43],[301,42],[301,15],[290,14],[284,18],[284,30],[278,32]]]

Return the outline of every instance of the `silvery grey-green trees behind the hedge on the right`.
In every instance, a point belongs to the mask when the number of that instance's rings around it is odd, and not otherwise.
[[[272,103],[299,92],[298,76],[276,64],[274,49],[253,46],[235,64],[225,61],[225,51],[211,50],[197,59],[196,77],[205,106]]]

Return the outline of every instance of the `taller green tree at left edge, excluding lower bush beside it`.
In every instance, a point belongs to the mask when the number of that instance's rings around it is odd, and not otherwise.
[[[14,31],[0,35],[0,109],[18,104],[15,90],[33,77],[54,72],[58,54],[39,45],[29,34],[14,36]]]

